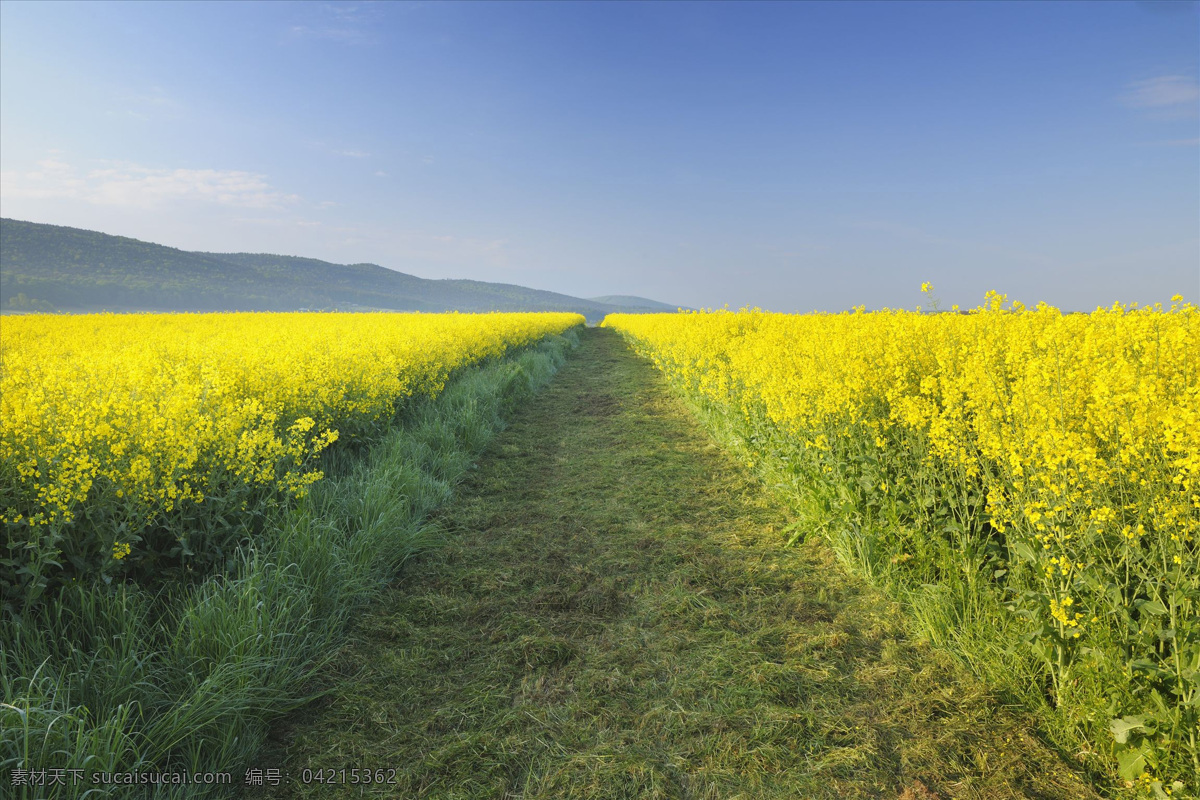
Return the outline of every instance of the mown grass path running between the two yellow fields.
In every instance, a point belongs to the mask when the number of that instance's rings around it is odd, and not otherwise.
[[[1093,796],[823,546],[781,547],[782,506],[616,333],[582,342],[254,796]],[[318,768],[396,783],[304,786]]]

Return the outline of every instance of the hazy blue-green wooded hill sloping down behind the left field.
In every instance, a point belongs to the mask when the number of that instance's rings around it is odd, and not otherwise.
[[[377,264],[198,253],[79,228],[0,219],[0,308],[11,311],[674,311],[508,283],[432,281]]]

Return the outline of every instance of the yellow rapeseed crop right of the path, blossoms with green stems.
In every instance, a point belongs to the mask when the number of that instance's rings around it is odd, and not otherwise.
[[[1123,776],[1195,775],[1200,311],[1180,297],[1091,314],[1006,300],[604,325],[760,441],[787,443],[797,471],[887,510],[892,564],[922,548],[978,555],[966,569],[986,570],[1028,620],[1054,702],[1090,704],[1073,724],[1091,726]],[[965,563],[924,581],[961,578]]]

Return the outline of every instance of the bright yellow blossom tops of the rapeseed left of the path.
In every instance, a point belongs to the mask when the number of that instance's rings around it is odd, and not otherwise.
[[[577,314],[85,314],[2,318],[0,522],[128,524],[230,481],[301,495],[343,426]],[[114,558],[121,558],[114,551]]]

